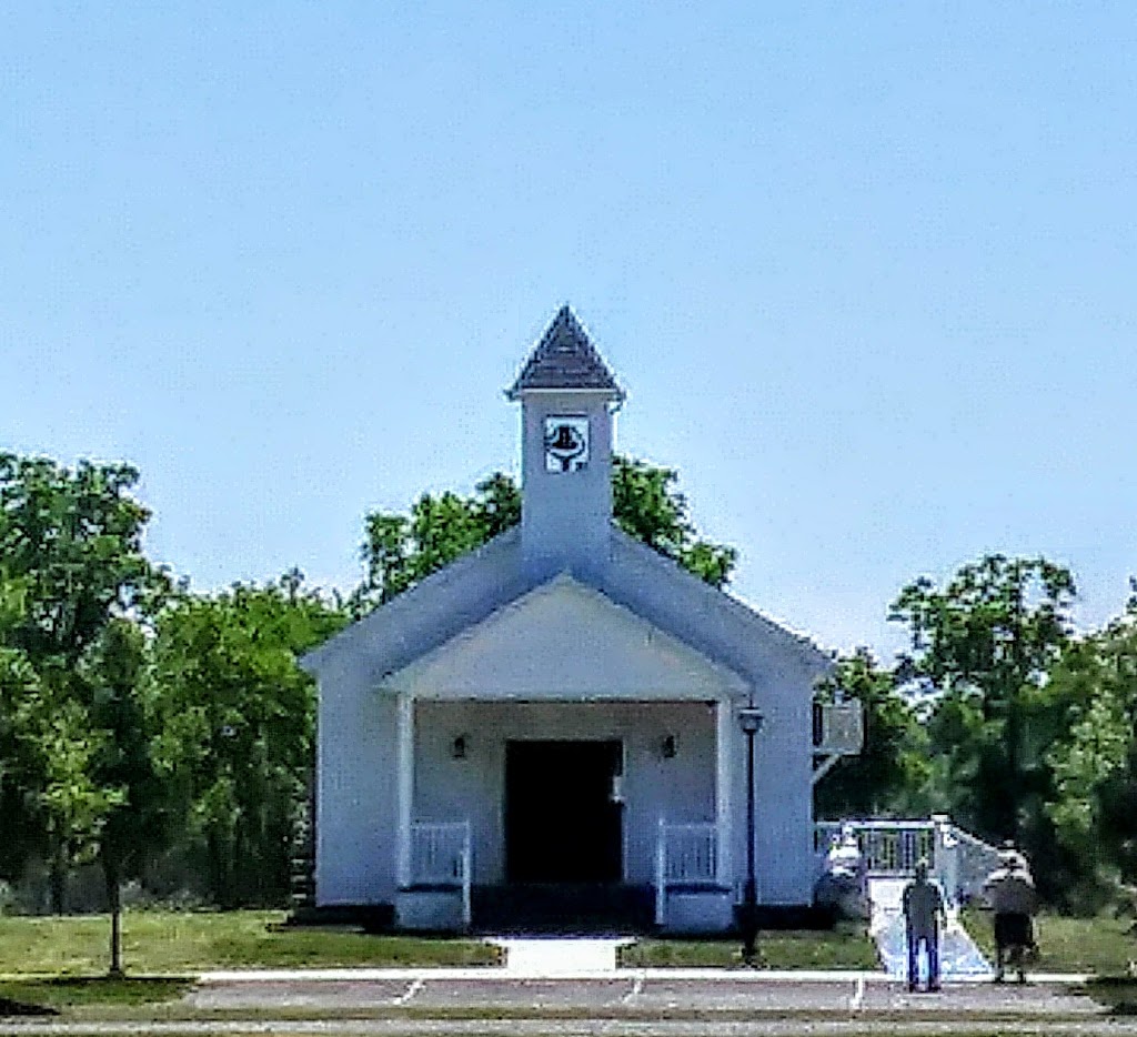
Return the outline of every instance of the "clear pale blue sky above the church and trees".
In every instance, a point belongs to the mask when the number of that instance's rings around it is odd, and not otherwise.
[[[875,646],[899,587],[1137,572],[1137,6],[9,5],[0,447],[125,458],[199,588],[358,575],[516,471],[568,301],[736,592]]]

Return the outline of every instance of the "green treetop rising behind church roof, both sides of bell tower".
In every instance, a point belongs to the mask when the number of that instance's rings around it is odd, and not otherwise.
[[[616,456],[612,472],[613,517],[626,533],[672,558],[713,587],[724,587],[738,551],[700,539],[672,468]],[[424,493],[410,515],[365,516],[360,558],[365,578],[351,599],[356,614],[384,604],[432,572],[481,547],[521,521],[521,491],[496,472],[472,497]]]

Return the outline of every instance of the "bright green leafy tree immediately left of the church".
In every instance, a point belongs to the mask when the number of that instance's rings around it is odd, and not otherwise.
[[[157,756],[222,907],[279,903],[313,764],[315,694],[296,657],[348,616],[292,572],[264,587],[183,594],[158,617]],[[256,866],[250,866],[255,862]]]

